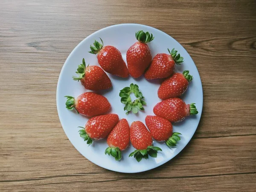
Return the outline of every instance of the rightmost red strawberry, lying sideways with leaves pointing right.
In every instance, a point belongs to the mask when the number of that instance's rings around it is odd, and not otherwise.
[[[195,103],[186,105],[180,98],[170,98],[157,103],[153,109],[155,115],[168,119],[170,122],[180,122],[186,116],[198,113]]]

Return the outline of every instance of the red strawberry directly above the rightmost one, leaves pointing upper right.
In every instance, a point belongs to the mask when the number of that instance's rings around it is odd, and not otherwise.
[[[189,71],[181,73],[174,73],[172,77],[164,80],[158,89],[158,97],[160,99],[168,99],[171,97],[181,96],[188,88],[189,81],[193,76],[189,75]]]

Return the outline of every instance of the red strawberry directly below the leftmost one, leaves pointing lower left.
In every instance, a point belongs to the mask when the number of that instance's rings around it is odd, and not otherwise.
[[[108,136],[110,131],[118,122],[119,117],[116,114],[99,115],[90,118],[85,124],[85,128],[79,130],[80,137],[87,140],[87,144],[92,144],[93,140],[101,140]]]

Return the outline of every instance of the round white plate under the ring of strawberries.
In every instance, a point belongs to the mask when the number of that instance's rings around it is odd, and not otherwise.
[[[197,115],[188,116],[183,122],[173,123],[173,131],[180,132],[182,134],[181,140],[177,144],[177,148],[168,148],[164,142],[154,141],[153,145],[162,148],[163,151],[158,152],[157,158],[149,157],[148,159],[141,160],[140,163],[138,163],[134,157],[128,157],[129,154],[135,150],[131,143],[125,151],[122,151],[122,159],[120,161],[116,161],[113,157],[105,155],[105,149],[108,147],[106,139],[94,141],[93,144],[88,147],[83,138],[80,137],[78,133],[80,128],[77,127],[84,127],[89,118],[81,116],[74,111],[68,111],[65,108],[66,98],[64,98],[66,95],[74,96],[76,98],[81,93],[88,91],[80,82],[74,81],[72,76],[76,75],[76,69],[78,65],[82,63],[83,58],[85,59],[86,64],[99,65],[96,55],[88,52],[90,51],[90,45],[93,44],[95,39],[99,41],[100,37],[102,38],[104,45],[112,45],[119,49],[124,61],[126,62],[126,51],[137,41],[135,38],[135,32],[139,30],[143,30],[144,32],[148,31],[154,35],[154,40],[148,43],[152,58],[157,53],[168,53],[167,48],[170,50],[175,48],[175,50],[183,56],[184,62],[181,65],[176,65],[175,71],[182,73],[184,70],[189,70],[194,79],[189,83],[189,87],[181,99],[183,99],[187,104],[196,103],[196,107],[198,109]],[[129,125],[134,121],[142,121],[145,124],[145,116],[154,115],[154,105],[161,101],[157,97],[157,90],[161,81],[148,81],[144,76],[137,79],[134,79],[131,76],[122,79],[109,73],[107,74],[112,81],[113,87],[109,90],[98,91],[97,93],[105,96],[111,103],[112,108],[110,113],[118,114],[119,119],[127,119]],[[139,86],[140,91],[143,93],[143,96],[145,96],[147,105],[144,107],[144,112],[139,111],[137,114],[129,113],[126,115],[124,111],[124,104],[120,102],[119,91],[122,88],[129,86],[131,83]],[[84,157],[96,165],[112,171],[125,173],[136,173],[154,169],[175,157],[175,155],[177,155],[189,143],[189,140],[195,133],[203,107],[201,79],[195,63],[186,50],[175,39],[166,33],[150,26],[139,24],[120,24],[109,26],[94,32],[81,41],[81,43],[79,43],[70,53],[62,67],[58,79],[56,97],[61,125],[74,147]]]

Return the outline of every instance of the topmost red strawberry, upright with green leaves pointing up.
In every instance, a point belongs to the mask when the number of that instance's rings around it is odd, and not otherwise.
[[[138,31],[135,33],[137,42],[133,44],[126,53],[129,73],[132,77],[140,77],[150,65],[152,56],[146,43],[154,39],[148,32]]]

